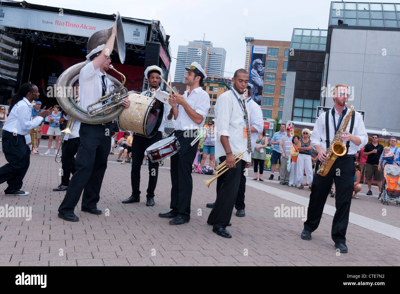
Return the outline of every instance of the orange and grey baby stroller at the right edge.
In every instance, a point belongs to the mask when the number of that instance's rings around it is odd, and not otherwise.
[[[385,164],[382,180],[382,197],[380,202],[389,205],[389,200],[396,200],[396,205],[400,205],[400,166],[395,164]]]

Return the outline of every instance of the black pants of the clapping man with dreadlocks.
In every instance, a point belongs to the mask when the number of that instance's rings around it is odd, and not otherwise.
[[[0,168],[0,184],[7,181],[6,194],[22,188],[22,180],[29,168],[30,149],[26,145],[25,136],[16,135],[3,130],[2,148],[7,164]]]

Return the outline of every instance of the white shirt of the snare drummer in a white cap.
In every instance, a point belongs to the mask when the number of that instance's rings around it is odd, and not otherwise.
[[[174,126],[175,130],[182,130],[182,131],[192,130],[192,129],[202,130],[208,110],[210,109],[211,106],[210,96],[201,87],[192,90],[189,96],[188,92],[189,89],[184,92],[183,97],[194,111],[203,116],[203,121],[201,124],[196,124],[188,116],[183,106],[180,105],[178,117],[175,120],[175,126]]]

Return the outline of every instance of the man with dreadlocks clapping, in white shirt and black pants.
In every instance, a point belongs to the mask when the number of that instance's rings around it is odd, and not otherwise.
[[[30,149],[26,145],[25,135],[28,130],[39,126],[43,118],[52,113],[46,107],[32,119],[32,101],[38,100],[38,87],[23,84],[11,98],[8,119],[3,126],[2,145],[8,164],[0,168],[0,184],[7,181],[6,195],[28,195],[22,191],[22,180],[30,163]]]

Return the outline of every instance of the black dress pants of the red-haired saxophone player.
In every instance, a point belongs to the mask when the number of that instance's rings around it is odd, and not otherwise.
[[[319,164],[320,161],[317,160],[316,170],[318,170]],[[332,240],[335,244],[346,243],[346,230],[349,221],[355,173],[356,168],[352,156],[342,156],[336,159],[328,175],[322,177],[317,173],[314,174],[304,229],[313,232],[318,228],[326,198],[332,186],[332,180],[334,180],[336,187],[336,212],[332,222]]]

